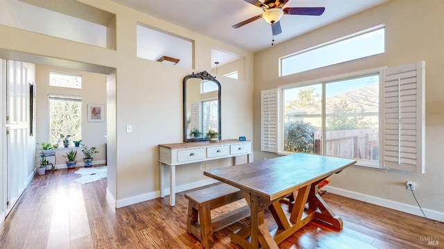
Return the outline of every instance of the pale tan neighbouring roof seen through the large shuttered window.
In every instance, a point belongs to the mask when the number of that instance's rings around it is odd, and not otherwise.
[[[360,113],[377,113],[379,112],[379,84],[369,85],[359,89],[331,96],[326,99],[327,110],[332,110],[334,105],[339,105],[341,101],[346,101],[349,108],[353,108]],[[308,105],[302,105],[285,111],[285,115],[310,115],[321,114],[321,101],[315,101]],[[327,112],[330,113],[330,112]]]

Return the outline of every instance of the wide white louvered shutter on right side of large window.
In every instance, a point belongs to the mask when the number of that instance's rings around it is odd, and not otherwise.
[[[425,173],[425,62],[385,70],[384,166]]]

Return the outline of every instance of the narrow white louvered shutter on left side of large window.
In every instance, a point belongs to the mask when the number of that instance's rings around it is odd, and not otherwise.
[[[278,89],[261,92],[261,151],[278,152]]]

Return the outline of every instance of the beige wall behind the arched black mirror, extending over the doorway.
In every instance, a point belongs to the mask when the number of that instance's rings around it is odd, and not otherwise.
[[[0,57],[34,60],[38,64],[58,62],[53,58],[60,58],[67,67],[80,66],[85,71],[111,69],[106,90],[108,190],[116,198],[117,206],[159,196],[157,145],[182,141],[182,79],[191,72],[211,71],[212,49],[230,51],[246,58],[245,80],[218,77],[222,86],[223,138],[253,137],[252,53],[112,1],[82,2],[116,14],[116,50],[0,25],[2,37],[7,37],[0,40]],[[137,22],[194,40],[195,69],[137,58]],[[133,126],[132,133],[126,133],[126,125]],[[208,164],[210,168],[226,166],[230,160]],[[178,168],[178,185],[207,179],[196,164]]]

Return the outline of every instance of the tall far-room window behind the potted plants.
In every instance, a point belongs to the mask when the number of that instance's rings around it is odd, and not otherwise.
[[[49,96],[49,141],[62,145],[60,134],[71,135],[69,140],[82,139],[82,98]]]

